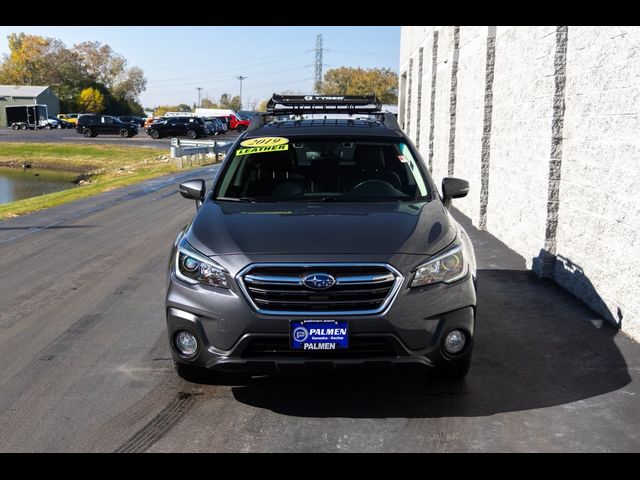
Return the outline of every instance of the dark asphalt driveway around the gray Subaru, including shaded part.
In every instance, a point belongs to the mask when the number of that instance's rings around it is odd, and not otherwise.
[[[0,222],[0,451],[640,451],[640,345],[471,226],[465,380],[181,380],[165,275],[195,208],[177,182],[198,176],[212,167]]]

